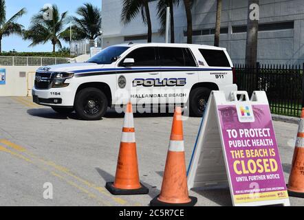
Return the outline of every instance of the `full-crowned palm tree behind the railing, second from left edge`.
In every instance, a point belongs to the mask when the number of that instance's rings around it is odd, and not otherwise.
[[[41,9],[38,14],[32,17],[32,25],[25,32],[24,39],[32,41],[30,47],[51,41],[53,52],[55,52],[56,46],[62,47],[61,39],[63,39],[65,24],[69,21],[67,19],[67,12],[59,14],[57,5],[52,5],[52,19],[50,20],[44,18],[44,13],[47,10],[49,9]]]

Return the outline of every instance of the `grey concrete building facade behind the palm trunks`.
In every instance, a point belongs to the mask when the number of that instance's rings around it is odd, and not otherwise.
[[[120,23],[122,0],[102,0],[104,41],[109,45],[123,43],[123,36],[146,34],[141,17],[129,25]],[[150,3],[153,26],[153,42],[164,42],[158,34],[160,27],[155,4]],[[223,1],[221,27],[228,27],[228,34],[221,34],[220,46],[226,47],[234,63],[244,63],[246,33],[232,33],[232,26],[246,25],[248,1]],[[186,43],[186,14],[184,3],[175,8],[176,43]],[[193,29],[215,28],[216,0],[195,1],[193,5]],[[259,23],[294,21],[294,30],[259,32],[258,61],[272,64],[301,64],[304,62],[304,1],[260,0]],[[214,36],[193,36],[193,43],[213,45]],[[107,46],[107,44],[104,44]]]

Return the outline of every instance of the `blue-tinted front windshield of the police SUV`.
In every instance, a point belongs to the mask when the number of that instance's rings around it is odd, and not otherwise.
[[[87,61],[87,63],[111,64],[116,61],[117,57],[130,47],[107,47],[99,54],[96,54]]]

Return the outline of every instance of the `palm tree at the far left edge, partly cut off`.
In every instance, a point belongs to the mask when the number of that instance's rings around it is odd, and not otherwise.
[[[0,0],[0,53],[2,51],[1,41],[4,36],[10,36],[10,34],[17,34],[22,36],[23,25],[17,23],[17,19],[26,13],[25,8],[22,8],[14,14],[8,21],[6,21],[6,1]]]

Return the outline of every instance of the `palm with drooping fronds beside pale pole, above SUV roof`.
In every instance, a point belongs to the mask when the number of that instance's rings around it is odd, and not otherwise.
[[[166,30],[166,8],[170,8],[170,32],[171,32],[171,43],[175,42],[174,37],[174,11],[173,6],[179,5],[180,0],[160,0],[158,1],[158,17],[160,19],[160,33],[164,34]]]

